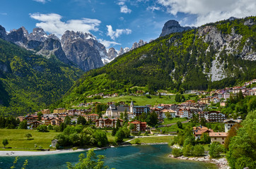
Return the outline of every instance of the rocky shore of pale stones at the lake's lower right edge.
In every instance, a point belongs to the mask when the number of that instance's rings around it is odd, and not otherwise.
[[[230,167],[228,166],[228,161],[226,158],[210,158],[209,155],[207,156],[202,156],[202,157],[185,157],[185,156],[179,156],[179,157],[174,157],[173,154],[169,155],[170,158],[177,158],[181,160],[191,160],[191,161],[199,161],[199,162],[204,162],[204,163],[214,163],[218,166],[219,169],[229,169]]]

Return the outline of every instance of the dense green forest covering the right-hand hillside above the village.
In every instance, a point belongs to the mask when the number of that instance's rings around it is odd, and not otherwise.
[[[252,20],[254,24],[246,25]],[[131,87],[146,87],[153,94],[158,89],[182,92],[185,89],[220,89],[256,78],[256,61],[241,58],[243,46],[256,51],[256,17],[237,20],[223,20],[209,23],[204,27],[216,27],[221,36],[234,31],[242,35],[234,40],[226,51],[226,46],[214,47],[214,42],[204,41],[199,29],[173,33],[160,37],[149,44],[129,51],[115,58],[103,68],[85,73],[55,106],[67,106],[83,101],[91,94],[128,94]],[[246,43],[245,43],[246,42]],[[218,57],[217,57],[218,56]],[[218,59],[226,78],[211,82],[212,62]]]

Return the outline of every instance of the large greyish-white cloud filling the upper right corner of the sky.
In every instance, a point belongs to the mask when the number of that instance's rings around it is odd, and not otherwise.
[[[195,25],[228,19],[231,16],[243,18],[256,15],[255,0],[158,0],[168,13],[188,13],[197,16]]]

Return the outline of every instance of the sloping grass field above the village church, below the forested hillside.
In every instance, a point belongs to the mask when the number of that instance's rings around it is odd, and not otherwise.
[[[184,94],[184,96],[186,99],[194,99],[194,96],[189,98],[189,94]],[[111,98],[93,99],[91,101],[100,102],[102,104],[107,104],[107,102],[111,101],[125,101],[128,104],[133,101],[135,106],[144,106],[146,104],[150,104],[151,106],[155,106],[157,104],[179,104],[178,102],[175,102],[175,95],[161,97],[151,95],[151,99],[147,98],[146,96],[117,96]]]

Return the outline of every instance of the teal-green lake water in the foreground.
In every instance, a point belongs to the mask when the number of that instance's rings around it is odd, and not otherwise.
[[[105,164],[110,168],[116,169],[203,169],[216,168],[216,165],[211,163],[200,163],[194,161],[181,161],[178,159],[168,158],[170,147],[166,144],[147,145],[147,146],[122,146],[110,149],[95,151],[95,154],[104,155]],[[86,151],[80,151],[67,154],[52,154],[46,156],[21,156],[18,160],[16,168],[21,168],[23,161],[28,159],[26,169],[30,168],[66,168],[66,162],[73,164],[78,162],[79,154]],[[15,157],[0,157],[0,168],[10,168]]]

